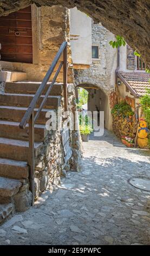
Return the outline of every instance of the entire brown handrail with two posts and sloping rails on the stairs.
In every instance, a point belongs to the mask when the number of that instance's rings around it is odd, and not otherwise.
[[[63,53],[63,61],[60,63],[58,66],[58,69],[56,71],[56,74],[50,83],[50,86],[47,90],[47,93],[44,95],[44,99],[38,108],[38,111],[34,117],[34,109],[36,108],[36,104],[38,100],[40,99],[40,96],[42,95],[43,90],[45,89],[51,75],[53,74],[53,71],[60,60],[60,57]],[[40,112],[45,105],[45,102],[48,99],[48,96],[50,94],[51,89],[55,85],[56,79],[58,74],[61,71],[61,68],[63,66],[63,95],[64,95],[64,110],[68,110],[68,97],[67,97],[67,42],[63,42],[60,49],[58,50],[53,63],[51,64],[49,70],[47,71],[47,74],[45,75],[42,83],[37,89],[37,92],[35,96],[33,97],[27,111],[24,114],[24,117],[21,120],[21,123],[19,124],[19,127],[21,129],[24,129],[25,126],[29,123],[29,156],[28,156],[28,165],[30,168],[29,172],[29,185],[30,185],[30,190],[32,192],[32,205],[34,205],[34,169],[35,169],[35,157],[34,157],[34,124],[37,120],[37,118],[40,115]]]

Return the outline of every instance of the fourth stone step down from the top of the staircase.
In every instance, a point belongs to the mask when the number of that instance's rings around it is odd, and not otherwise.
[[[35,141],[42,142],[45,136],[47,136],[47,129],[45,129],[45,125],[35,124],[34,126],[34,135]],[[0,120],[0,136],[10,139],[21,139],[28,141],[29,140],[29,126],[25,127],[25,129],[19,128],[18,122],[12,121],[4,121]]]

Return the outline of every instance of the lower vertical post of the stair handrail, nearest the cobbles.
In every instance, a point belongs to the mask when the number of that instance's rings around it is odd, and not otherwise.
[[[32,112],[29,119],[29,156],[28,156],[28,164],[30,168],[29,173],[29,184],[30,191],[32,192],[32,205],[34,205],[34,111]]]

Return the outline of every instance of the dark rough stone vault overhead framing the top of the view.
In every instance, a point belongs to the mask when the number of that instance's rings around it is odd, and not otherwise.
[[[149,0],[3,0],[0,3],[0,15],[7,15],[31,3],[35,3],[38,7],[57,4],[67,8],[76,6],[93,17],[95,22],[101,22],[113,34],[123,35],[127,43],[140,52],[147,67],[150,67]]]

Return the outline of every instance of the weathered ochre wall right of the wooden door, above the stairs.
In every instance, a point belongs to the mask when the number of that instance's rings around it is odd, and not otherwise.
[[[60,5],[41,8],[32,5],[31,12],[33,64],[1,62],[1,65],[6,70],[27,72],[27,80],[41,81],[63,41],[68,41],[68,62],[70,64],[72,63],[69,43],[69,10]],[[55,71],[57,68],[58,64]],[[51,78],[54,75],[55,72]],[[58,75],[57,81],[63,81],[63,70]],[[72,82],[73,69],[69,66],[68,83]]]

